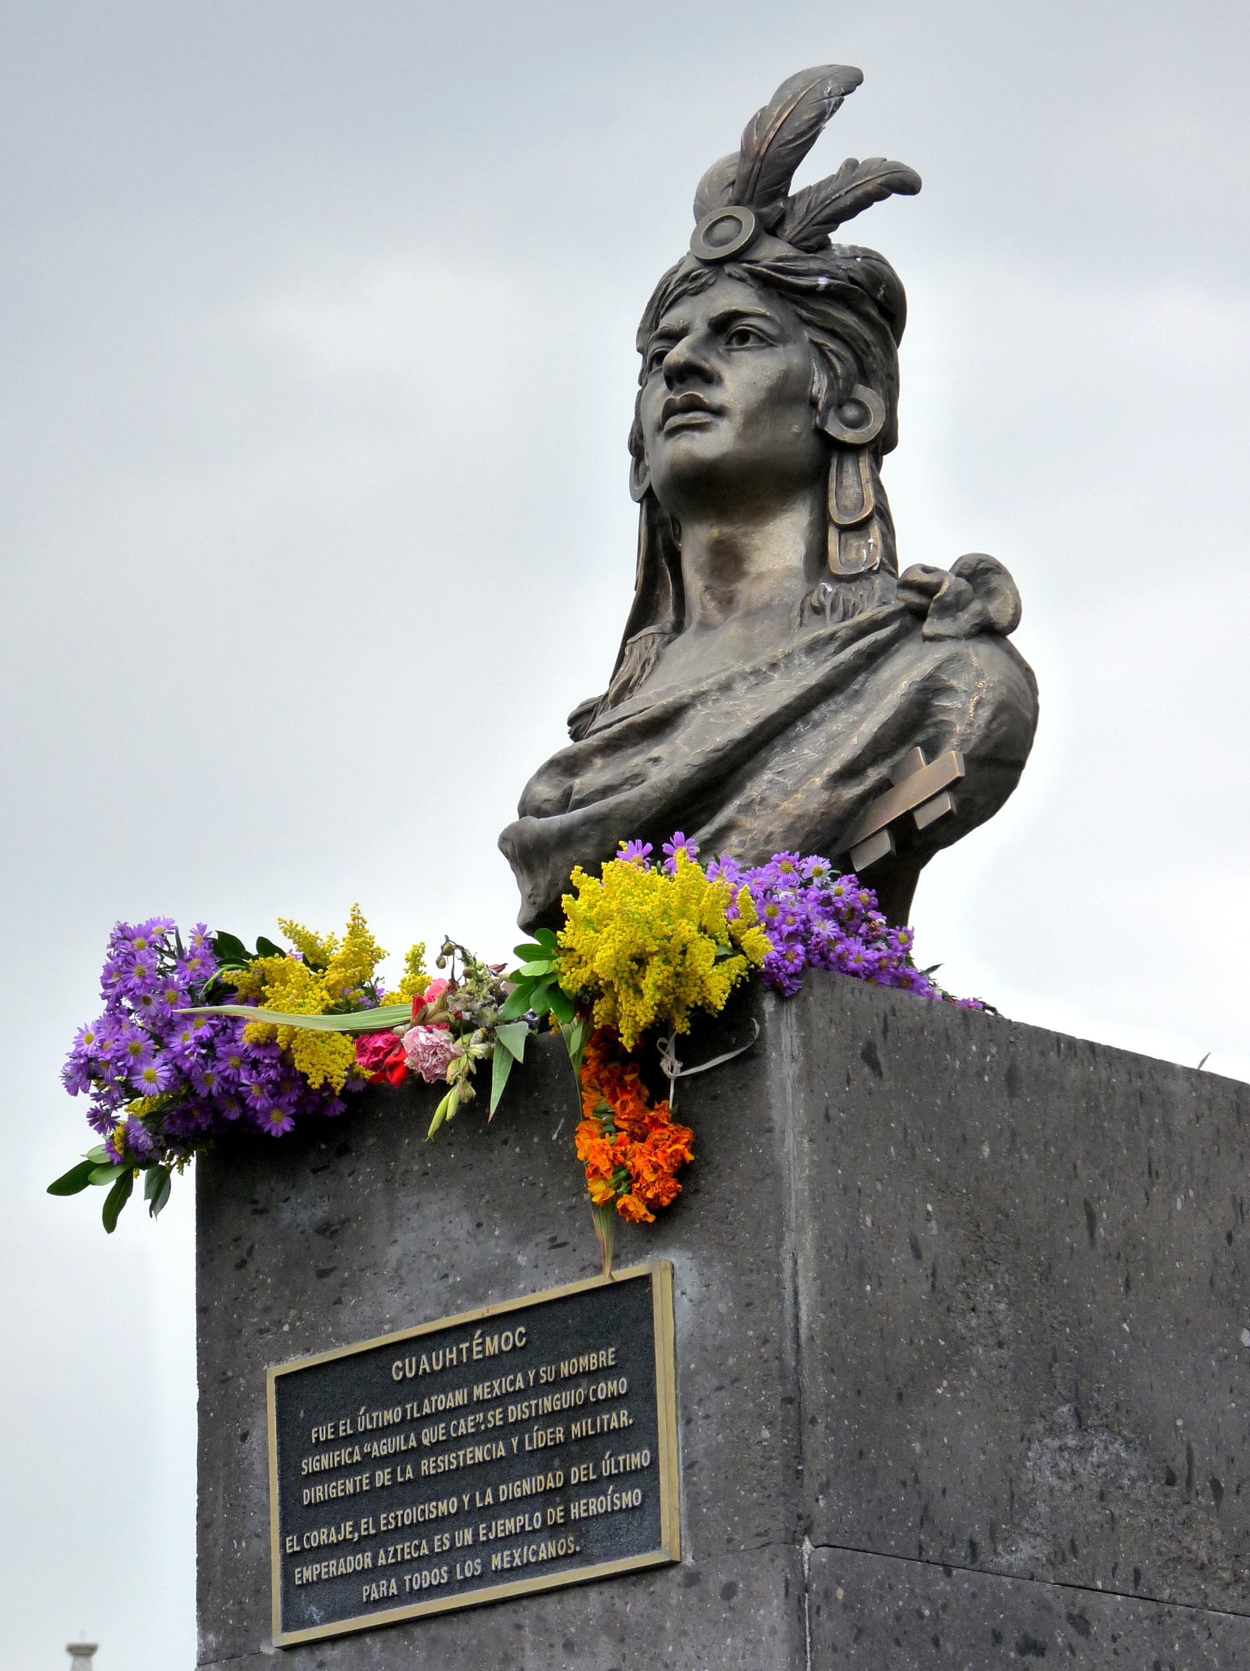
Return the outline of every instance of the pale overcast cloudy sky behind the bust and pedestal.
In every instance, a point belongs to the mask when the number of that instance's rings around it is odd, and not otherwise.
[[[0,1658],[194,1663],[191,1190],[42,1193],[117,917],[503,956],[495,849],[625,615],[633,328],[785,75],[924,175],[904,563],[993,551],[1023,787],[922,962],[1250,1078],[1247,23],[1233,0],[0,3]]]

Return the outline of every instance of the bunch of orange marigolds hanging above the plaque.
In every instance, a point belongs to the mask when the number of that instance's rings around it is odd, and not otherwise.
[[[667,1101],[652,1103],[637,1061],[610,1028],[597,1028],[587,1039],[578,1081],[577,1156],[587,1168],[587,1190],[608,1270],[612,1210],[630,1223],[652,1223],[655,1208],[668,1206],[682,1191],[677,1168],[695,1158],[695,1135],[677,1125]]]

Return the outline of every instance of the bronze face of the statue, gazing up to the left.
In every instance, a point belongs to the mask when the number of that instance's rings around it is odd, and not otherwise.
[[[826,481],[812,349],[782,297],[722,272],[663,314],[643,379],[647,466],[673,516],[764,515]]]

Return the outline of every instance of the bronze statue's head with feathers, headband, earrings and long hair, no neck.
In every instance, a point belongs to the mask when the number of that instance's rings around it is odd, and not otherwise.
[[[630,431],[638,583],[605,705],[682,630],[680,516],[692,496],[737,495],[749,511],[797,475],[819,478],[829,573],[814,607],[846,620],[892,597],[881,460],[897,443],[907,304],[882,256],[831,234],[894,192],[917,192],[921,180],[901,162],[849,157],[790,196],[795,169],[861,80],[856,69],[821,65],[777,89],[739,150],[700,180],[690,252],[642,316]]]

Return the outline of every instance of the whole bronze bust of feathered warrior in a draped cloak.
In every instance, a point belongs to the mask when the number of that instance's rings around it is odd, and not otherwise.
[[[906,922],[921,867],[1016,787],[1036,680],[991,556],[899,575],[881,463],[897,443],[906,296],[842,222],[919,175],[881,157],[790,196],[862,80],[790,77],[704,175],[690,252],[638,328],[633,607],[602,697],[501,837],[520,922],[575,864],[682,829],[705,857],[856,867]]]

